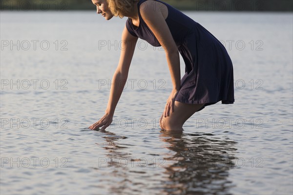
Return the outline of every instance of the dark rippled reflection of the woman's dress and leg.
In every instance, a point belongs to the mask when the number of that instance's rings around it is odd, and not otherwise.
[[[169,177],[163,185],[167,194],[229,194],[236,142],[207,135],[211,134],[162,131],[161,139],[175,152],[166,158],[175,161],[166,167]]]

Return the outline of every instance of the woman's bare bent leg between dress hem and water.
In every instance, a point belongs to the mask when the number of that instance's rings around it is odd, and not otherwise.
[[[162,130],[183,131],[183,124],[203,106],[204,104],[185,104],[175,101],[174,112],[170,111],[167,117],[161,116],[160,126]]]

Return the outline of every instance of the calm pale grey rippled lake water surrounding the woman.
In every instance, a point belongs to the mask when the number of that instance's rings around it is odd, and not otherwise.
[[[165,53],[144,41],[113,124],[87,129],[104,114],[126,19],[2,11],[1,194],[292,194],[293,14],[186,14],[225,44],[235,103],[169,134]]]

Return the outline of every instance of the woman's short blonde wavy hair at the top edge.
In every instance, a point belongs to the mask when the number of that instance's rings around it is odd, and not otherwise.
[[[107,0],[109,9],[114,16],[123,18],[125,13],[134,9],[134,4],[139,0]]]

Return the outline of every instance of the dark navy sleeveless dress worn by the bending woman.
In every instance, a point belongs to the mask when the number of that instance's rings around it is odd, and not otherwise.
[[[161,46],[141,17],[143,8],[140,5],[145,1],[140,0],[137,4],[139,26],[135,27],[128,18],[126,28],[131,35],[152,46]],[[185,62],[185,75],[175,100],[186,104],[204,104],[201,109],[219,101],[233,104],[233,66],[224,45],[199,23],[169,4],[162,3],[168,8],[166,22]]]

